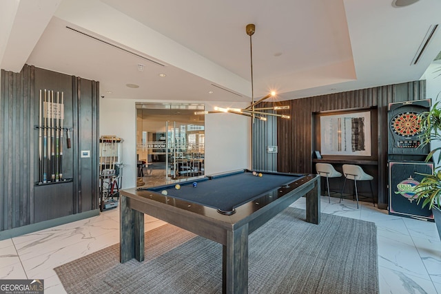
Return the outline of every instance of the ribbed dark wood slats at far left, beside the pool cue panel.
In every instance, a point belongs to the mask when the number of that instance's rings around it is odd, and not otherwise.
[[[32,218],[34,71],[1,72],[0,230],[29,224]],[[38,105],[37,105],[38,107]]]

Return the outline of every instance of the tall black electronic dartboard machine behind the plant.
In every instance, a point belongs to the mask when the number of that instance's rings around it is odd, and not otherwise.
[[[433,172],[433,163],[424,162],[430,144],[423,146],[420,140],[420,114],[430,105],[429,99],[389,103],[389,214],[433,220],[431,210],[416,203],[413,190],[424,178],[421,174]]]

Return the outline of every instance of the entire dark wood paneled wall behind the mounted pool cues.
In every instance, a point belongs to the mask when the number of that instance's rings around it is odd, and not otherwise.
[[[99,83],[25,65],[1,70],[0,231],[99,209]],[[64,125],[72,149],[63,147],[63,178],[39,181],[39,90],[64,94]],[[64,140],[66,140],[64,134]],[[80,151],[90,151],[81,158]]]

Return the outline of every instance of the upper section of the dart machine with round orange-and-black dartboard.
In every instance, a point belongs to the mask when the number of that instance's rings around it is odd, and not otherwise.
[[[430,100],[389,103],[387,118],[388,154],[424,155],[429,154],[430,146],[420,146],[420,118],[422,112],[430,108]]]

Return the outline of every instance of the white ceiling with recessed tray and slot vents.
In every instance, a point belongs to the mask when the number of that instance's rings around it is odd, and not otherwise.
[[[1,1],[0,67],[19,72],[27,63],[99,81],[104,98],[249,102],[245,25],[254,23],[254,98],[416,81],[441,49],[438,28],[413,64],[441,22],[441,1],[391,2]]]

